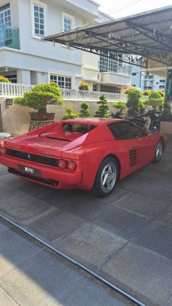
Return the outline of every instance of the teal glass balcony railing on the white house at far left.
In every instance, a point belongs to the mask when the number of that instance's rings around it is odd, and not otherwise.
[[[19,49],[19,30],[11,25],[0,25],[0,47]]]

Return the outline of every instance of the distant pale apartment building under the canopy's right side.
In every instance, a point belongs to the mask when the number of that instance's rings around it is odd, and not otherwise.
[[[151,89],[152,91],[165,91],[166,79],[158,75],[149,74],[141,70],[141,67],[132,66],[131,85],[140,88],[141,91]]]

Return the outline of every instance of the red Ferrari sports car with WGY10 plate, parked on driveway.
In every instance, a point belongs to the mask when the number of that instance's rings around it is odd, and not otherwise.
[[[75,118],[0,141],[0,163],[26,180],[109,195],[118,179],[159,162],[167,145],[123,119]]]

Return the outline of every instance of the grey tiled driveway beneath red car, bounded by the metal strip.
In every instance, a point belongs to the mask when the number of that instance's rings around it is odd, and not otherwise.
[[[172,137],[100,199],[54,190],[0,168],[0,214],[150,306],[172,306]]]

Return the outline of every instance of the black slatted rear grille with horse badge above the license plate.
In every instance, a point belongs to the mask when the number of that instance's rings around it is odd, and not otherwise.
[[[7,155],[15,157],[15,158],[20,158],[26,161],[30,162],[35,162],[39,164],[45,164],[48,166],[54,166],[58,167],[58,159],[56,158],[50,158],[50,157],[45,157],[41,155],[35,155],[31,153],[26,153],[26,152],[21,152],[13,149],[7,149]]]

